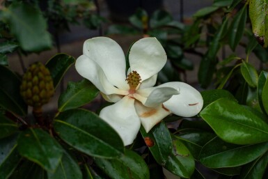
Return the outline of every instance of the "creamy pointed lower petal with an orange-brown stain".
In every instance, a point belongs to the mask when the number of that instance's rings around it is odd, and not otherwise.
[[[168,114],[171,114],[171,111],[168,111],[168,109],[165,109],[162,105],[157,107],[145,107],[141,102],[136,101],[135,108],[146,132],[149,132],[152,127],[168,116]]]

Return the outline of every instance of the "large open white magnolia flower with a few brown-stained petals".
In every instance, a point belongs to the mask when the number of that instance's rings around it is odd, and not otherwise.
[[[75,68],[105,100],[116,102],[102,109],[100,117],[118,132],[125,146],[133,143],[141,124],[149,132],[168,114],[191,117],[203,107],[202,96],[188,84],[169,82],[152,87],[165,63],[166,53],[158,40],[143,38],[130,49],[126,76],[125,55],[118,43],[106,37],[84,42]]]

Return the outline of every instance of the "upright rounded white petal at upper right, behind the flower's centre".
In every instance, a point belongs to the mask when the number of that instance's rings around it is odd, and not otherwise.
[[[166,52],[156,38],[142,38],[132,45],[129,65],[144,81],[157,74],[166,64]]]

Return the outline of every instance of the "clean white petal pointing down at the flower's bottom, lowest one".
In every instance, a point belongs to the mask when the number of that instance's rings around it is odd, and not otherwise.
[[[100,117],[118,132],[124,145],[133,143],[141,127],[136,114],[134,98],[125,96],[122,100],[100,111]]]

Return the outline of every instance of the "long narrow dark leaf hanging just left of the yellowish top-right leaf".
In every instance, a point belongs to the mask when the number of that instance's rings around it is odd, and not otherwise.
[[[239,12],[235,15],[232,20],[232,24],[230,24],[230,33],[229,37],[229,45],[232,51],[235,51],[238,43],[240,42],[246,25],[246,17],[247,17],[247,6],[244,6]]]

